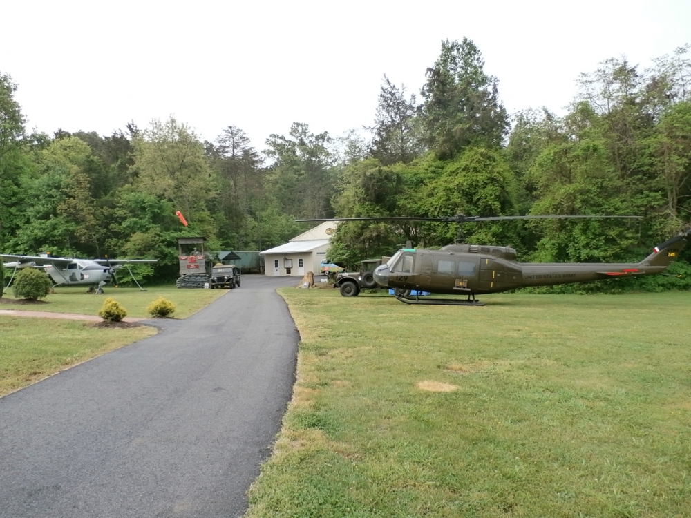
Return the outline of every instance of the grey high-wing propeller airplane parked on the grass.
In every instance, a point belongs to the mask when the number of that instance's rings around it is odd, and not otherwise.
[[[88,293],[102,294],[108,282],[117,285],[115,270],[123,265],[156,262],[155,259],[77,259],[53,257],[48,253],[39,256],[13,256],[0,254],[6,268],[43,268],[55,282],[55,286],[81,285],[88,287]]]

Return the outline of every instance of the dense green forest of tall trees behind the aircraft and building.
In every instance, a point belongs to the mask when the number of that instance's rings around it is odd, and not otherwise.
[[[236,126],[201,142],[172,117],[105,136],[30,133],[18,86],[0,73],[0,249],[156,258],[142,273],[163,281],[176,276],[179,236],[263,250],[307,228],[298,218],[643,215],[464,224],[468,242],[511,244],[524,261],[640,260],[691,222],[689,48],[645,70],[604,61],[577,78],[565,115],[509,114],[477,46],[443,41],[419,95],[384,75],[363,131],[334,138],[296,122],[261,150]],[[342,224],[331,258],[354,265],[455,233],[440,223]],[[689,258],[674,272],[691,274]],[[688,287],[674,277],[632,282]]]

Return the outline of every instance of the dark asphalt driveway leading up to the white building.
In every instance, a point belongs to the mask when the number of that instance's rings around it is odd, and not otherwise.
[[[243,285],[0,399],[0,517],[237,517],[292,394],[295,325]]]

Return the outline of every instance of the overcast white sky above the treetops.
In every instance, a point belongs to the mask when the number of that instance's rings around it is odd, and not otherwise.
[[[0,73],[28,128],[110,135],[174,115],[265,148],[292,122],[372,124],[384,74],[419,93],[442,39],[473,40],[509,112],[560,111],[581,72],[691,43],[691,0],[0,0]]]

